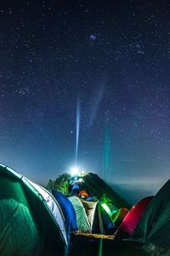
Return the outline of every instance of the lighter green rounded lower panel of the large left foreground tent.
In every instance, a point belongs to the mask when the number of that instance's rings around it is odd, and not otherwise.
[[[39,234],[31,212],[16,200],[0,200],[0,255],[38,255]]]

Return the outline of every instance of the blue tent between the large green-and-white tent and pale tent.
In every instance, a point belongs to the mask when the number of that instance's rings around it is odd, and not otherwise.
[[[75,209],[73,208],[70,200],[65,195],[63,195],[59,191],[52,190],[51,192],[57,202],[59,202],[59,206],[65,216],[65,229],[67,235],[69,236],[72,230],[78,230]]]

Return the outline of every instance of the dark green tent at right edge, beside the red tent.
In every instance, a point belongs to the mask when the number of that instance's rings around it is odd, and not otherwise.
[[[139,224],[133,232],[133,238],[158,247],[170,248],[170,179],[150,202]]]

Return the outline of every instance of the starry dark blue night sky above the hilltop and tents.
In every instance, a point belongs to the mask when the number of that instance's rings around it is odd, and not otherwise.
[[[77,148],[77,165],[131,202],[154,194],[170,174],[169,10],[2,0],[0,162],[45,185]]]

